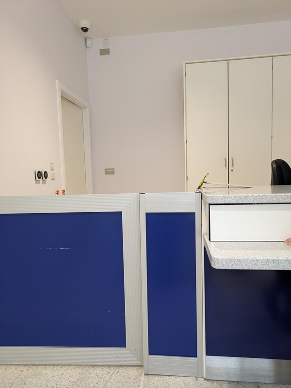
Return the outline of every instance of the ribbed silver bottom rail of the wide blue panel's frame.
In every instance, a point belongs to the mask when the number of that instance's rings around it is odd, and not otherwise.
[[[0,364],[142,365],[126,348],[0,346]]]

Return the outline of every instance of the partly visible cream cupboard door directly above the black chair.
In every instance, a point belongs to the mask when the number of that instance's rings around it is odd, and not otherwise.
[[[272,159],[291,166],[291,55],[273,58]]]

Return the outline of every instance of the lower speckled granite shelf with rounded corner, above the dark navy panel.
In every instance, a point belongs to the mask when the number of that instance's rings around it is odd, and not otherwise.
[[[291,245],[284,242],[209,241],[210,264],[219,270],[291,270]]]

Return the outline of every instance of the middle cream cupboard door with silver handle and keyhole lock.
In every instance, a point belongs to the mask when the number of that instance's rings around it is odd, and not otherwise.
[[[229,183],[270,185],[272,58],[228,63]]]

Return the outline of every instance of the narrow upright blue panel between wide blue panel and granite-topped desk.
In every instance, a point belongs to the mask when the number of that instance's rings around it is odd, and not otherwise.
[[[149,354],[197,357],[195,214],[147,213]]]

